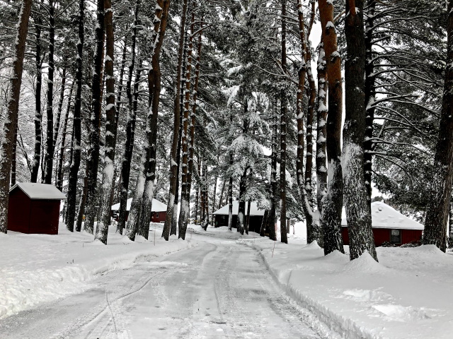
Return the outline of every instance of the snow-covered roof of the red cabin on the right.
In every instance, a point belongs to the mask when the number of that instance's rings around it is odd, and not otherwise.
[[[406,217],[406,215],[402,215],[393,207],[381,201],[375,201],[371,204],[371,218],[373,228],[389,228],[394,230],[423,230],[424,228],[420,223]],[[341,225],[348,225],[344,208]]]

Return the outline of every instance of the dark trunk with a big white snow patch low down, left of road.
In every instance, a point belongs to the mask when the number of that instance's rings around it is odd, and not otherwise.
[[[101,206],[96,228],[96,239],[107,244],[108,226],[110,225],[110,196],[115,173],[115,148],[116,148],[116,107],[115,107],[115,74],[113,62],[115,59],[115,46],[113,36],[113,9],[110,0],[104,0],[105,6],[105,155],[103,179],[101,186]]]

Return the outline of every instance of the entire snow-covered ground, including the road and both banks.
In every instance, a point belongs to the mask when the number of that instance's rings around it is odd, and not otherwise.
[[[186,241],[164,242],[157,227],[151,242],[134,244],[112,230],[108,246],[65,230],[0,235],[0,333],[15,338],[14,326],[30,323],[21,331],[40,328],[36,338],[452,337],[453,256],[435,246],[378,248],[376,263],[367,254],[323,256],[304,244],[301,225],[289,244],[200,226],[189,227]],[[165,255],[179,249],[187,250]],[[67,311],[74,305],[78,319]],[[10,316],[24,309],[32,310]],[[53,316],[62,317],[58,328],[45,325]]]

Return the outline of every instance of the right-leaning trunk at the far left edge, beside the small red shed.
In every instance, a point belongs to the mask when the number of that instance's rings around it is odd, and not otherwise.
[[[23,56],[28,32],[31,0],[23,0],[17,25],[13,73],[9,79],[6,117],[4,119],[4,136],[0,139],[0,232],[8,230],[8,199],[11,162],[13,160],[13,138],[18,124],[19,97],[21,95]]]

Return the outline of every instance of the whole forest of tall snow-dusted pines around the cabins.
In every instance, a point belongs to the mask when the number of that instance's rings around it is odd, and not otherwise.
[[[0,0],[0,230],[16,182],[67,194],[108,242],[229,228],[377,260],[373,187],[442,251],[453,178],[453,0]],[[316,35],[317,34],[317,35]],[[319,36],[320,35],[320,36]],[[126,201],[132,206],[126,221]],[[237,225],[231,206],[239,200]],[[180,213],[178,215],[178,203]],[[85,218],[84,218],[85,217]],[[97,226],[96,226],[97,220]],[[177,232],[178,231],[178,232]],[[450,240],[452,241],[449,241]]]

